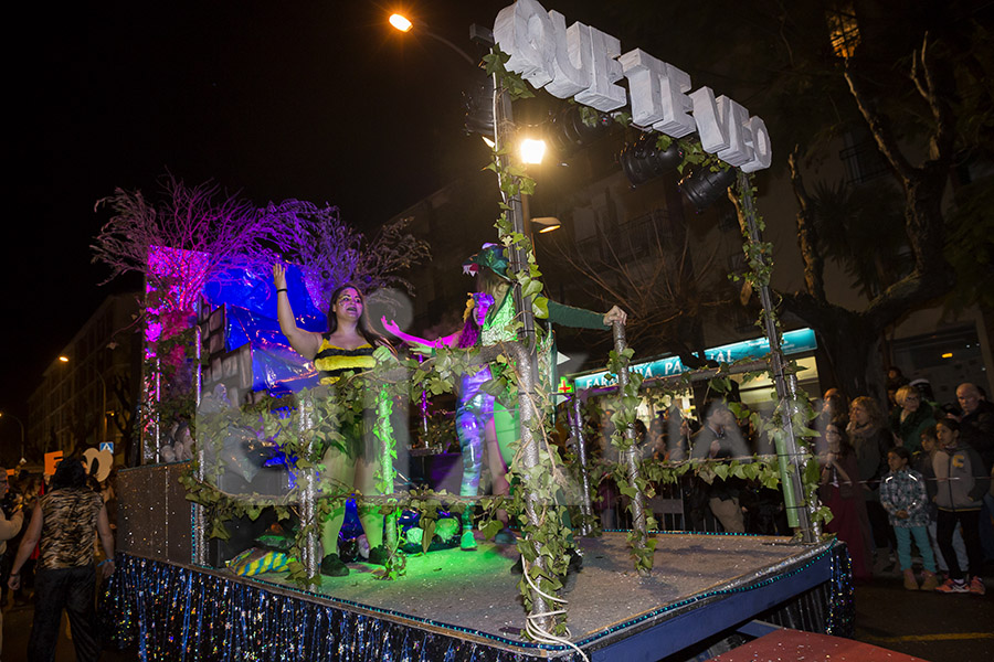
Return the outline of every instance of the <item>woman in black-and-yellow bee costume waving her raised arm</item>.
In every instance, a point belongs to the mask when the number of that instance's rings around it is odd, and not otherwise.
[[[393,351],[383,337],[373,332],[366,318],[362,292],[353,285],[342,285],[331,292],[328,308],[328,332],[316,333],[300,329],[294,318],[286,288],[286,270],[283,265],[273,267],[276,285],[279,330],[290,346],[308,361],[314,362],[321,384],[334,386],[338,378],[350,372],[362,372],[376,365],[373,350],[385,346]],[[377,473],[379,452],[373,435],[364,434],[363,425],[343,429],[346,449],[329,446],[321,462],[325,478],[345,490],[361,494],[378,494]],[[321,574],[342,577],[349,568],[338,556],[338,534],[345,520],[345,504],[336,509],[321,526]],[[383,515],[378,508],[360,506],[359,521],[369,541],[369,563],[384,565],[389,552],[383,547]]]

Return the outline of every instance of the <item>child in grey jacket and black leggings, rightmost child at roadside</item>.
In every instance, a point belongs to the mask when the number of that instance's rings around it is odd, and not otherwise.
[[[980,512],[984,493],[990,489],[991,477],[984,470],[983,460],[970,446],[960,444],[960,425],[943,418],[938,423],[939,444],[942,449],[932,462],[939,491],[939,547],[949,564],[949,579],[937,590],[940,592],[972,592],[984,595],[986,587],[981,578],[984,553],[980,544]],[[969,575],[964,575],[953,549],[952,538],[956,524],[963,528],[966,543]]]

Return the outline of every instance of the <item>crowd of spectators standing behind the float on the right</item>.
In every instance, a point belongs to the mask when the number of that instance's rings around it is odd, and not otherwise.
[[[882,405],[829,388],[811,421],[818,496],[833,512],[825,530],[847,544],[858,581],[902,575],[908,589],[983,595],[982,566],[994,559],[994,404],[963,383],[956,402],[940,406],[927,380],[909,382],[892,371]],[[673,463],[773,452],[741,403],[711,401],[700,410],[700,421],[672,406],[643,424],[639,456]],[[610,424],[600,436],[612,459]],[[759,481],[705,481],[688,472],[676,488],[656,488],[683,503],[684,516],[670,527],[790,533],[782,494]],[[610,478],[599,496],[602,525],[625,527],[625,500]]]

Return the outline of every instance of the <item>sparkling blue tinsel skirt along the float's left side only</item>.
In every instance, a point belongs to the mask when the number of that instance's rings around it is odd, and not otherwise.
[[[118,555],[102,596],[109,642],[140,660],[538,662],[529,655],[201,572]],[[519,644],[520,645],[520,644]],[[528,645],[528,644],[524,644]],[[535,644],[532,644],[535,645]],[[557,660],[579,655],[563,652]]]

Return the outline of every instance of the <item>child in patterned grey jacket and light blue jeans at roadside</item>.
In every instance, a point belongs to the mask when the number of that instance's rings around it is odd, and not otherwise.
[[[935,558],[929,544],[928,492],[924,478],[908,465],[911,453],[907,448],[898,446],[887,451],[887,465],[890,473],[880,483],[880,505],[890,515],[890,525],[897,535],[898,562],[905,574],[905,588],[918,590],[918,580],[911,568],[911,537],[921,552],[924,566],[922,572],[922,590],[935,590],[939,580],[935,578]]]

